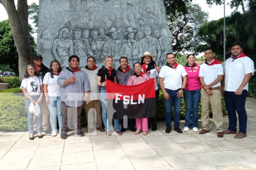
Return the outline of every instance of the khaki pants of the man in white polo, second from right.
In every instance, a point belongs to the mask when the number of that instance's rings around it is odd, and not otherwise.
[[[213,95],[207,95],[206,91],[201,89],[201,103],[202,103],[202,128],[209,130],[209,109],[211,104],[211,110],[213,111],[213,122],[216,126],[217,132],[223,131],[223,113],[221,105],[221,91],[212,90]]]

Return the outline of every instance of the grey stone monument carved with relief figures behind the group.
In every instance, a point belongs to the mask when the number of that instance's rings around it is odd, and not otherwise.
[[[114,69],[121,56],[133,67],[145,51],[164,66],[172,39],[163,0],[39,0],[37,53],[47,67],[56,59],[65,68],[71,55],[80,67],[89,56],[100,68],[105,56]]]

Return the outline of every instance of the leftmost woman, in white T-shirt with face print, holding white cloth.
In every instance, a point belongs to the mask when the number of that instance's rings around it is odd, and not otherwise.
[[[43,97],[43,82],[41,78],[38,76],[36,72],[36,68],[33,64],[28,64],[26,66],[26,73],[24,78],[21,82],[20,87],[25,95],[25,106],[28,112],[28,132],[29,132],[29,139],[34,140],[33,136],[33,116],[36,113],[36,129],[38,132],[38,138],[42,138],[43,135],[41,134],[41,126],[42,126],[42,117],[41,117],[41,100]],[[29,112],[29,107],[31,103],[34,106],[39,105],[40,111]],[[31,108],[31,107],[30,107]],[[33,107],[32,107],[33,108]],[[38,107],[35,107],[38,109]]]

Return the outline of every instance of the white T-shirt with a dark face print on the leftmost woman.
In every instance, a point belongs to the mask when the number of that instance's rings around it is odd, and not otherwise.
[[[43,82],[40,77],[34,76],[25,78],[21,82],[21,87],[24,87],[29,95],[40,95],[41,89],[40,85],[43,85]]]

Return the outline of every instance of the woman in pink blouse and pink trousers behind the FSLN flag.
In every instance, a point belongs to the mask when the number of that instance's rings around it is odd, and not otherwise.
[[[134,75],[129,77],[129,80],[127,82],[128,86],[141,84],[150,79],[148,74],[145,74],[141,71],[141,64],[138,62],[134,63],[134,71],[135,71]],[[154,79],[154,81],[156,82],[156,79]],[[147,118],[137,118],[136,127],[137,127],[137,130],[134,134],[139,134],[142,129],[143,135],[144,136],[147,135],[147,130],[148,130]]]

